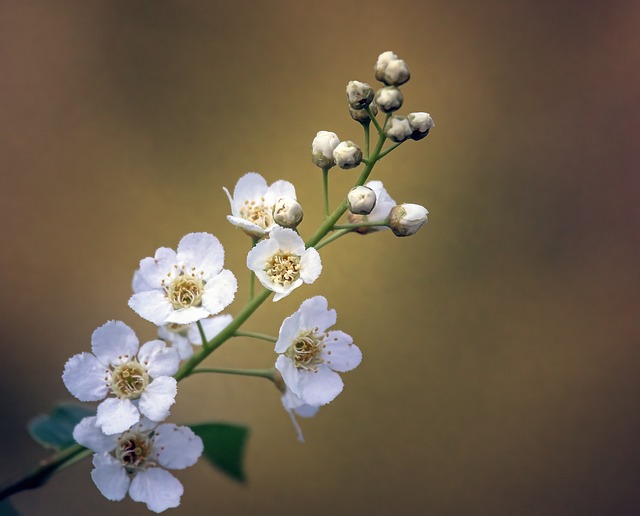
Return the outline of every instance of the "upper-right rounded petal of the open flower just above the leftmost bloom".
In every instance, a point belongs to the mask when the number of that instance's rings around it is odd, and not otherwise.
[[[189,233],[178,244],[177,258],[178,264],[185,265],[188,271],[204,273],[206,281],[222,270],[224,248],[210,233]]]

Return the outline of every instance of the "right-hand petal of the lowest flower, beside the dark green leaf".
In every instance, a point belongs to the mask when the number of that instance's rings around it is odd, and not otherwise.
[[[184,469],[198,461],[204,445],[202,439],[188,426],[165,424],[155,430],[153,450],[153,455],[161,466]]]

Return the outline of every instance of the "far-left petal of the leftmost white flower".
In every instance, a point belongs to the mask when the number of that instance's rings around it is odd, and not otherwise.
[[[106,366],[91,353],[72,356],[64,366],[62,381],[69,392],[80,401],[98,401],[109,392]]]

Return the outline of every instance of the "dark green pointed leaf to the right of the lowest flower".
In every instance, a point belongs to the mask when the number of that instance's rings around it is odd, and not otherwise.
[[[204,444],[204,456],[216,468],[238,482],[246,480],[244,450],[249,438],[246,426],[230,423],[189,425]]]

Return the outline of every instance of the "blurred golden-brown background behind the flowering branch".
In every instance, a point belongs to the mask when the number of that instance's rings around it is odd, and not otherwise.
[[[249,481],[179,472],[173,514],[640,512],[640,4],[634,1],[0,3],[0,481],[46,453],[27,421],[71,399],[60,375],[128,307],[138,260],[210,231],[246,298],[248,239],[222,186],[292,181],[319,221],[318,130],[362,141],[349,80],[377,55],[412,71],[402,112],[432,134],[376,169],[427,206],[407,239],[344,238],[312,286],[364,352],[300,445],[260,379],[181,384],[174,422],[247,424]],[[356,172],[332,173],[337,202]],[[234,341],[209,364],[267,367]],[[143,514],[89,461],[14,497],[26,515]]]

